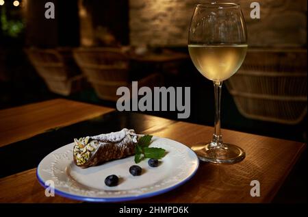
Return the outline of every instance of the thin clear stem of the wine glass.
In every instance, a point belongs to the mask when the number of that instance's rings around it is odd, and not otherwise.
[[[222,135],[220,131],[220,99],[221,99],[222,81],[214,81],[215,96],[215,123],[214,135],[211,140],[211,146],[222,146]]]

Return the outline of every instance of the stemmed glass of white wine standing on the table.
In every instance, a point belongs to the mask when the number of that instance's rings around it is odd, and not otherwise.
[[[196,5],[188,36],[190,58],[198,71],[214,83],[215,127],[211,142],[199,143],[192,150],[201,161],[233,164],[242,161],[245,151],[222,142],[220,98],[222,81],[242,65],[247,51],[246,24],[236,3]]]

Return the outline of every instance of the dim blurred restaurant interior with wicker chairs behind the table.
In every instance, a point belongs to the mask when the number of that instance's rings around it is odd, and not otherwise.
[[[49,0],[51,1],[51,0]],[[185,121],[214,125],[211,81],[196,71],[187,38],[195,0],[0,0],[0,109],[66,98],[116,107],[116,89],[190,86]],[[240,3],[248,53],[224,82],[222,128],[307,140],[307,1]],[[145,112],[176,119],[177,112]]]

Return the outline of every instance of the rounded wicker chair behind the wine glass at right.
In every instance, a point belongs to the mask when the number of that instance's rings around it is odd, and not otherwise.
[[[307,50],[249,50],[226,84],[243,116],[298,124],[307,114]]]

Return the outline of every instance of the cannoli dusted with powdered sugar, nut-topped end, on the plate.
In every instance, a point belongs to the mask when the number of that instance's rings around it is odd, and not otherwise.
[[[95,166],[135,153],[138,136],[133,129],[74,139],[74,163],[81,168]]]

